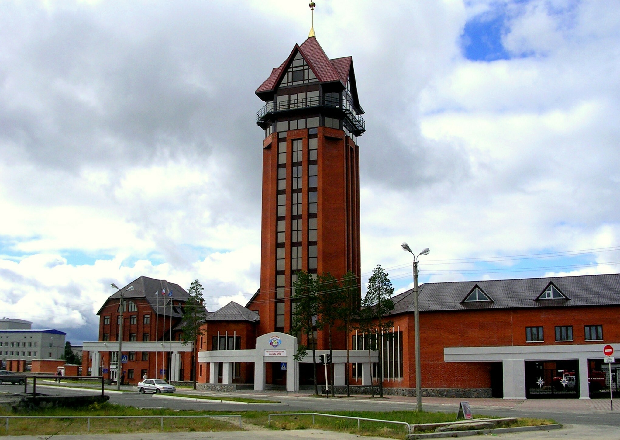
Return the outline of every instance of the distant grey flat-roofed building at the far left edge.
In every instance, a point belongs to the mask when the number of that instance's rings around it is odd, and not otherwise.
[[[0,320],[0,360],[61,359],[64,356],[66,333],[54,329],[32,329],[30,321],[3,318]]]

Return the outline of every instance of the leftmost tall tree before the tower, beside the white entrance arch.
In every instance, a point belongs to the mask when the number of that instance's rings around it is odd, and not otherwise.
[[[316,380],[316,344],[314,343],[314,320],[318,311],[316,297],[316,279],[308,272],[297,272],[297,280],[293,283],[293,323],[291,324],[291,334],[306,335],[306,344],[302,344],[301,338],[298,340],[297,352],[294,359],[301,361],[308,348],[312,349],[312,369],[314,372],[314,393],[319,393],[319,385]]]

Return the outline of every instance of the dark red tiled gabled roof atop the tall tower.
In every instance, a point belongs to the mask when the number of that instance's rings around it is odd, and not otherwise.
[[[289,65],[294,53],[299,50],[301,55],[306,59],[310,68],[316,74],[317,79],[321,83],[330,83],[332,81],[342,81],[342,84],[347,84],[347,76],[350,67],[353,63],[353,58],[345,56],[343,58],[335,58],[330,60],[325,55],[325,52],[315,37],[308,37],[301,46],[295,45],[290,55],[286,60],[276,68],[273,68],[269,78],[265,79],[260,87],[256,89],[256,93],[268,92],[275,89],[278,81],[285,71],[286,66]]]

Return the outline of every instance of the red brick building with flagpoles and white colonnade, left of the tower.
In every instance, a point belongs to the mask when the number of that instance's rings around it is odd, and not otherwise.
[[[128,290],[130,287],[133,290]],[[121,290],[125,381],[137,383],[144,374],[173,381],[192,380],[193,343],[183,344],[180,330],[187,292],[178,284],[144,276]],[[82,375],[116,380],[120,292],[110,295],[97,315],[99,341],[84,342]]]

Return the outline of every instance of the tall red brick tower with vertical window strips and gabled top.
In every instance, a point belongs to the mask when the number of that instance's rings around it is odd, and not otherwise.
[[[288,332],[296,271],[360,274],[357,137],[365,131],[350,56],[330,60],[314,37],[256,91],[265,106],[257,335]],[[344,341],[334,348],[344,348]],[[342,345],[342,347],[340,347]],[[319,334],[319,349],[325,347]]]

